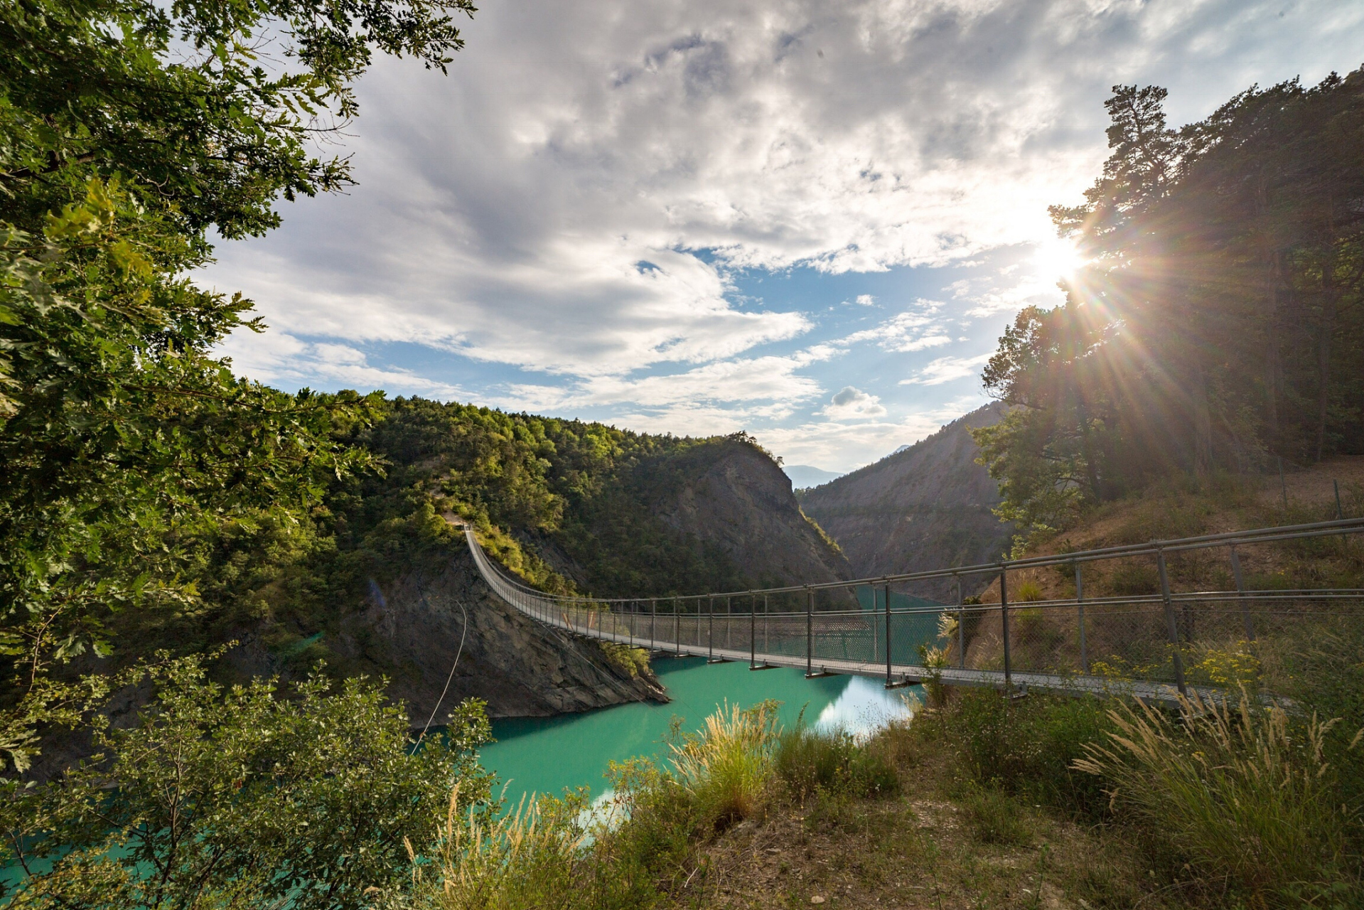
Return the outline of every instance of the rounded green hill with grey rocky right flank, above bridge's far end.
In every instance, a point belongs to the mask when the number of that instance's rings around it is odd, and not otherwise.
[[[647,435],[398,398],[356,442],[391,467],[352,483],[338,544],[374,554],[376,572],[391,535],[453,513],[551,591],[664,596],[850,577],[776,461],[743,434]]]

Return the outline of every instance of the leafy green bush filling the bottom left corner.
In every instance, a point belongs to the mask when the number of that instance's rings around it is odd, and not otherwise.
[[[33,872],[11,906],[359,909],[402,887],[412,845],[441,840],[457,783],[460,821],[490,810],[479,703],[413,749],[406,712],[363,679],[224,692],[196,658],[162,655],[125,681],[155,689],[135,727],[97,729],[87,763],[0,802]]]

